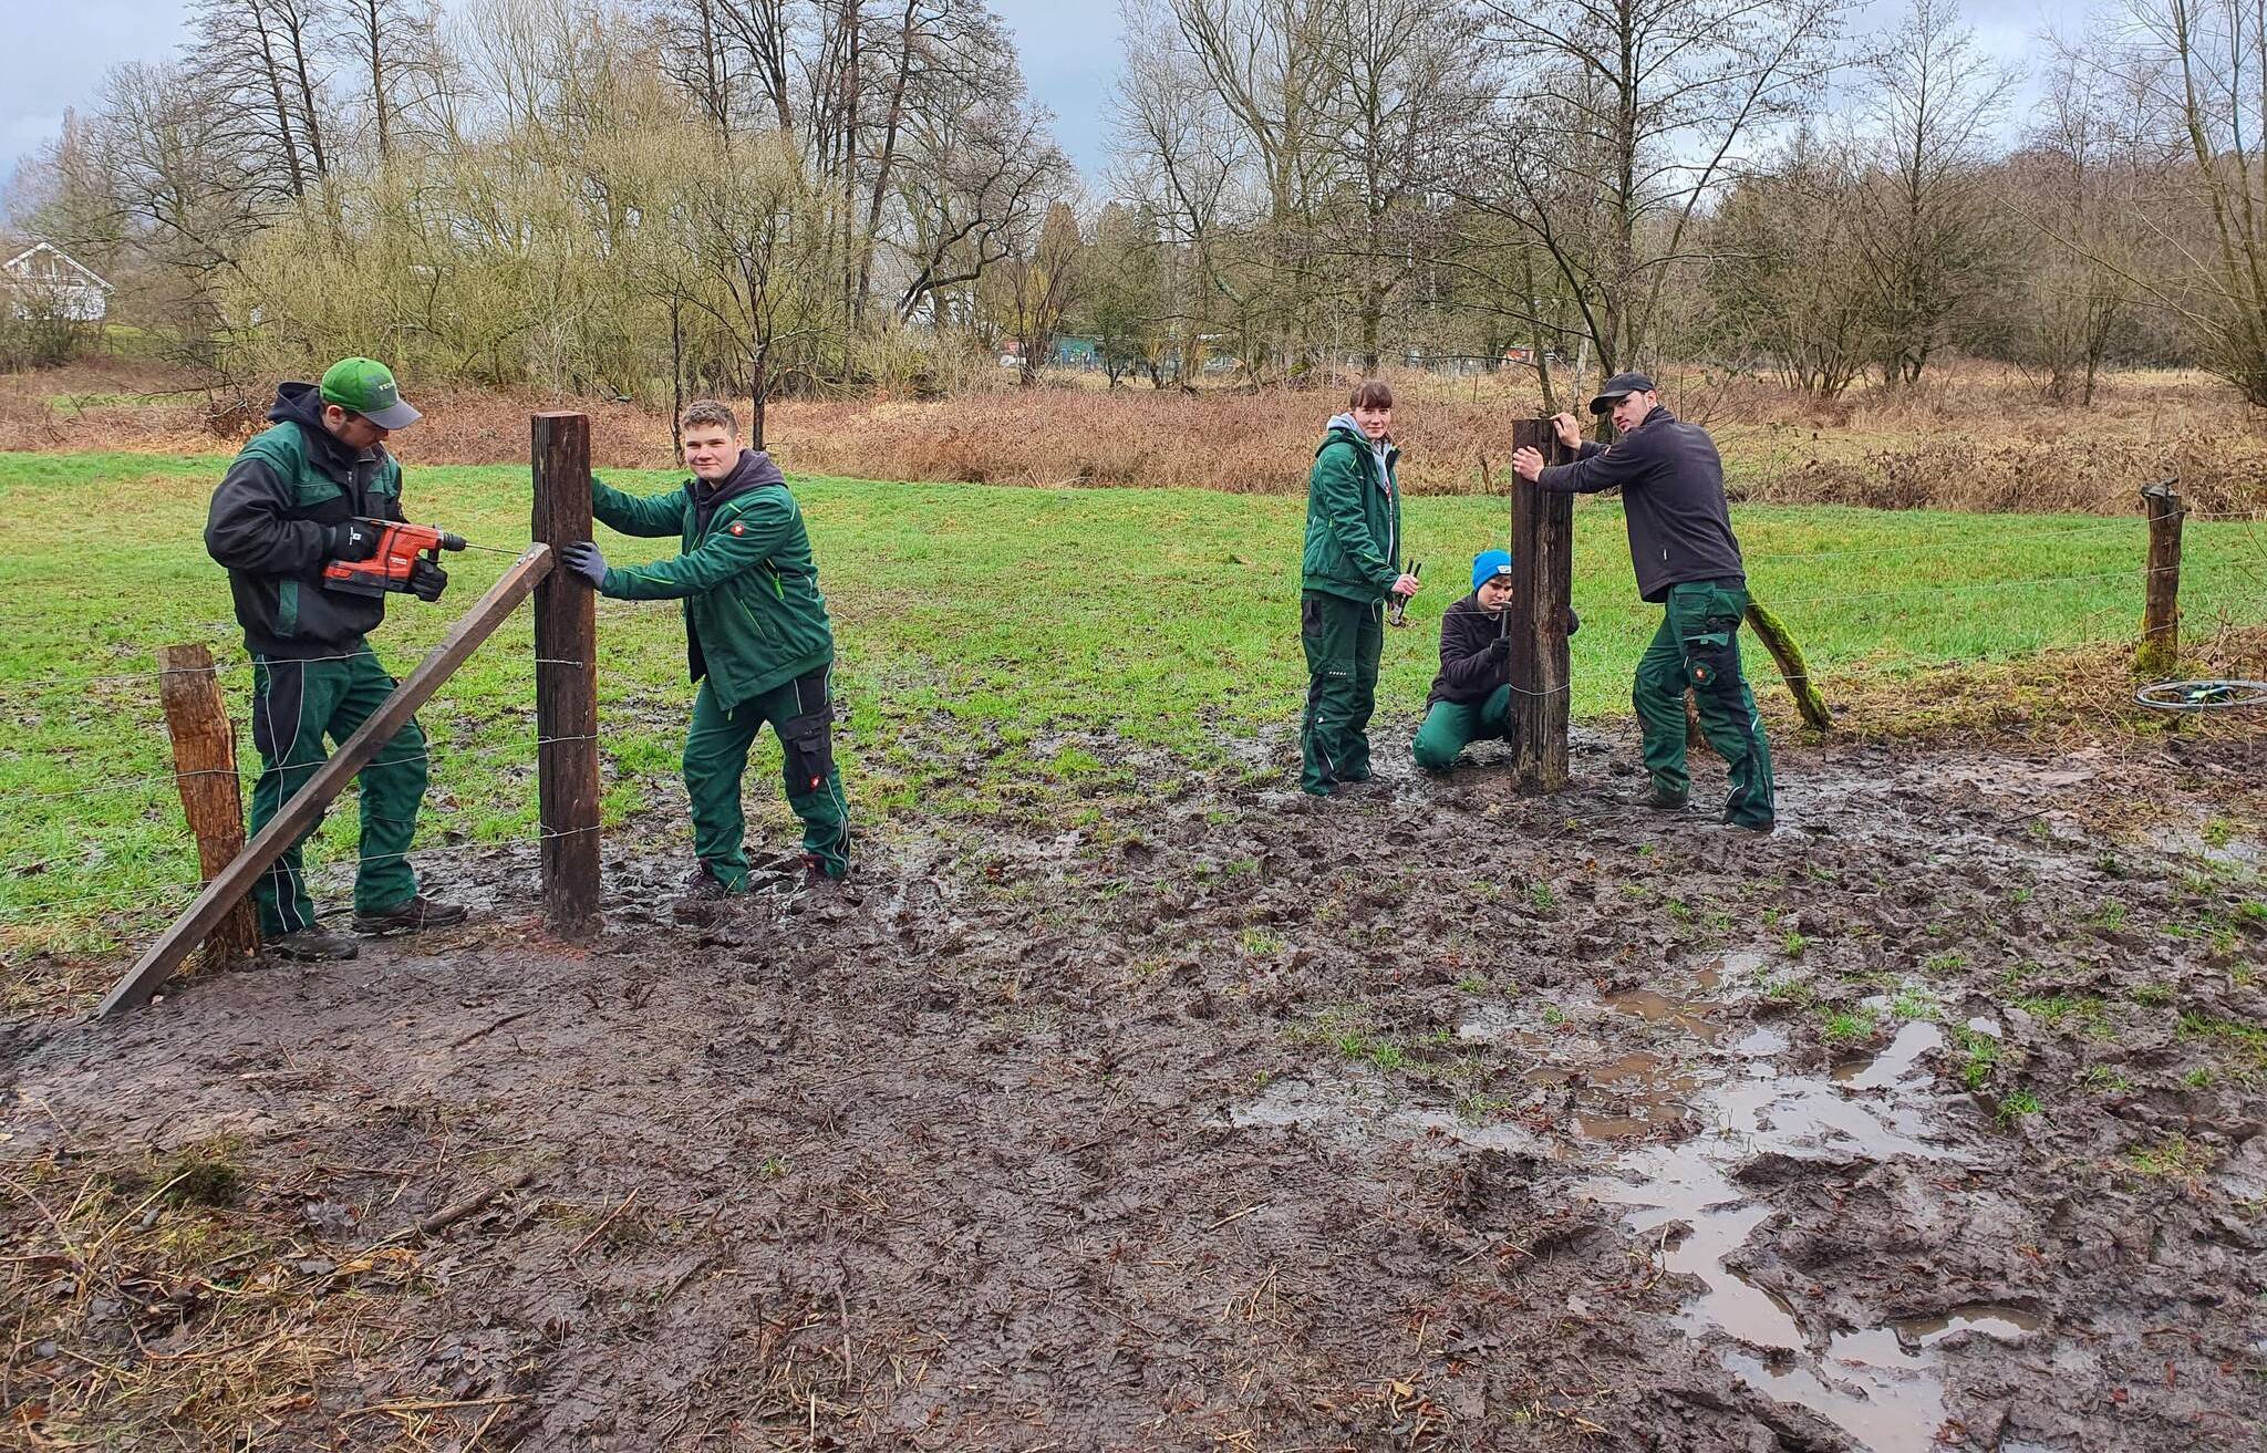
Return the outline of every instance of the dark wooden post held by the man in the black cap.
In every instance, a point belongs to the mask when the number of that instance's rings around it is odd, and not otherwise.
[[[1551,419],[1514,419],[1512,449],[1546,465],[1566,451]],[[1512,766],[1519,791],[1566,787],[1566,607],[1573,596],[1573,496],[1512,476]]]

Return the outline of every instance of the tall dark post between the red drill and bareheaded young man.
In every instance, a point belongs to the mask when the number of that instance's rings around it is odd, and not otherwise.
[[[535,542],[589,539],[589,415],[535,415],[533,467]],[[571,571],[535,587],[535,734],[544,923],[583,938],[598,929],[598,592]]]

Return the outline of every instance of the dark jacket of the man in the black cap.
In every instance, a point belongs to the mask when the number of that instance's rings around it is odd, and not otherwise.
[[[1637,594],[1648,601],[1666,601],[1669,587],[1687,580],[1748,583],[1716,442],[1662,406],[1612,444],[1582,444],[1576,462],[1553,465],[1535,483],[1562,494],[1621,490]]]

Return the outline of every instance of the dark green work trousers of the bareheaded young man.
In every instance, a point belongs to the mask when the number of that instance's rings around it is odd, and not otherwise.
[[[818,859],[827,877],[850,870],[850,814],[843,775],[834,766],[827,669],[750,696],[730,712],[716,705],[703,680],[685,732],[685,796],[694,805],[694,852],[732,893],[748,891],[748,814],[739,805],[739,784],[748,748],[764,725],[780,739],[780,787],[803,818],[803,852]]]

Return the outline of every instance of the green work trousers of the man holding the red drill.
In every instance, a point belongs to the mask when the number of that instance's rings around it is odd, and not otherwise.
[[[392,694],[394,678],[370,651],[322,662],[252,657],[252,746],[261,753],[252,832],[265,827],[329,759],[324,739],[345,741]],[[404,857],[426,789],[426,744],[417,723],[394,732],[356,780],[363,784],[363,846],[354,870],[354,911],[385,914],[417,895],[417,875]],[[299,846],[311,832],[313,823],[252,884],[268,938],[315,927],[315,902],[299,870]]]

